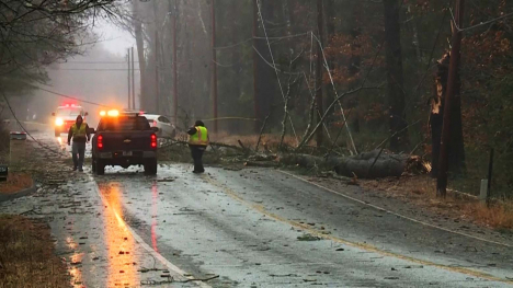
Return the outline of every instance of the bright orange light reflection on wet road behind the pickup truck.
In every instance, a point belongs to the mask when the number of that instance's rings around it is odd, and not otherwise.
[[[105,242],[109,255],[107,287],[138,287],[135,240],[123,220],[119,183],[101,185],[100,192],[109,203],[105,210]]]

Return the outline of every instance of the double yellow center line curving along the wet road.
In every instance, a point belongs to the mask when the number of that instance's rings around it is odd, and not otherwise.
[[[308,233],[310,233],[312,235],[316,235],[318,238],[321,238],[321,239],[324,239],[324,240],[331,240],[331,241],[340,243],[340,244],[362,249],[362,250],[365,250],[367,252],[374,252],[374,253],[377,253],[377,254],[380,254],[380,255],[384,255],[384,256],[395,257],[395,258],[399,258],[399,260],[403,260],[403,261],[408,261],[408,262],[412,262],[412,263],[421,264],[421,265],[425,265],[425,266],[432,266],[432,267],[445,269],[445,270],[453,272],[453,273],[466,274],[466,275],[470,275],[470,276],[474,276],[474,277],[479,277],[479,278],[487,279],[487,280],[500,281],[500,283],[513,285],[513,280],[499,278],[499,277],[495,277],[495,276],[490,275],[488,273],[475,270],[475,269],[471,269],[471,268],[452,267],[452,266],[447,266],[447,265],[444,265],[444,264],[434,263],[434,262],[431,262],[431,261],[419,260],[419,258],[414,258],[414,257],[411,257],[411,256],[406,256],[406,255],[402,255],[402,254],[398,254],[398,253],[395,253],[395,252],[384,251],[384,250],[380,250],[380,249],[378,249],[378,247],[376,247],[374,245],[367,244],[367,243],[352,242],[352,241],[349,241],[349,240],[345,240],[345,239],[342,239],[342,238],[326,234],[320,230],[312,229],[308,224],[303,224],[303,223],[299,223],[299,222],[296,222],[296,221],[293,221],[293,220],[288,220],[288,219],[285,219],[285,218],[283,218],[281,216],[276,215],[276,214],[270,212],[262,205],[244,200],[242,197],[239,196],[239,194],[237,192],[235,192],[230,187],[227,187],[226,185],[217,182],[216,180],[212,178],[208,175],[205,175],[204,178],[208,183],[210,183],[212,185],[221,188],[228,196],[230,196],[231,198],[240,201],[244,206],[248,206],[248,207],[252,208],[253,210],[256,210],[256,211],[259,211],[259,212],[265,215],[266,217],[270,217],[270,218],[272,218],[272,219],[274,219],[276,221],[287,223],[287,224],[289,224],[292,227],[295,227],[295,228],[298,228],[298,229],[303,229],[304,231],[307,231]]]

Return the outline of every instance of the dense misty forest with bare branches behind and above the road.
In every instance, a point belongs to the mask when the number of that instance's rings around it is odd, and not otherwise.
[[[219,135],[341,155],[386,147],[431,161],[433,175],[446,137],[456,188],[477,193],[494,149],[495,192],[511,195],[511,1],[1,2],[8,95],[49,82],[103,18],[136,41],[137,106],[180,127],[202,118]]]

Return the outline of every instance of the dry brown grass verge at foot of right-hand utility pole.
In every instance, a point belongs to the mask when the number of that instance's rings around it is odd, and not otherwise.
[[[436,196],[436,180],[429,175],[358,182],[365,188],[387,193],[391,197],[431,209],[437,215],[470,220],[497,230],[513,229],[513,201],[494,200],[488,208],[475,196],[455,191],[448,191],[447,197],[443,199]]]

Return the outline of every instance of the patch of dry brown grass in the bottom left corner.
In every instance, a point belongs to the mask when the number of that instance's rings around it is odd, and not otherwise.
[[[0,215],[0,243],[1,287],[70,287],[47,224]]]

